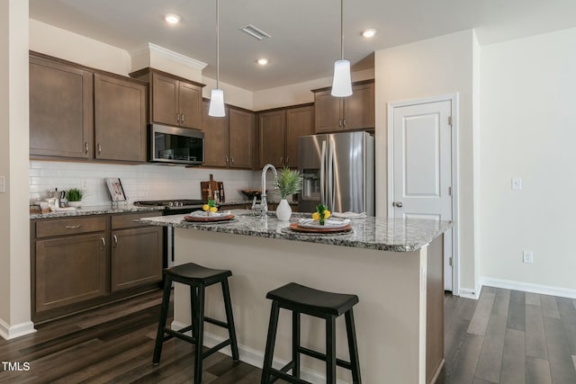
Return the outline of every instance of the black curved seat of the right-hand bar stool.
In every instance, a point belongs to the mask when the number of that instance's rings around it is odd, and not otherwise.
[[[334,316],[346,313],[358,303],[356,295],[314,290],[295,282],[269,291],[266,299],[282,302],[283,307],[290,306],[302,313],[323,313]]]

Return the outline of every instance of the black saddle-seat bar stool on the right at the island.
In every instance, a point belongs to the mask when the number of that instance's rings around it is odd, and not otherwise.
[[[270,324],[266,340],[266,353],[264,367],[262,368],[262,384],[274,382],[277,379],[291,383],[309,383],[300,379],[300,353],[326,362],[326,382],[336,383],[336,366],[352,371],[352,380],[360,384],[360,363],[358,361],[358,347],[356,343],[356,329],[354,326],[354,312],[352,307],[358,302],[356,295],[314,290],[309,287],[290,282],[284,287],[271,290],[266,299],[272,299]],[[282,369],[272,368],[278,314],[280,308],[292,310],[292,361]],[[300,314],[326,319],[326,354],[313,351],[300,344]],[[346,318],[348,350],[350,362],[336,358],[336,317],[344,314]],[[292,376],[287,372],[292,369]],[[273,379],[274,378],[274,379]]]

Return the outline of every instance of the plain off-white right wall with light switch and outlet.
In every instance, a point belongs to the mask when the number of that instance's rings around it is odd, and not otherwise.
[[[489,284],[576,297],[575,45],[570,29],[482,48],[480,240]],[[511,190],[512,177],[522,178],[521,191]],[[534,264],[522,263],[523,250],[534,251]]]

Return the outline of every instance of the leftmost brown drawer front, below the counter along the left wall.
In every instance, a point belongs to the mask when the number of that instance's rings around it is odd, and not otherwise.
[[[49,219],[36,222],[36,237],[76,235],[106,230],[106,217]]]

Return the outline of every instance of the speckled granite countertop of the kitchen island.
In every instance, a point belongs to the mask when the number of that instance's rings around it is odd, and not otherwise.
[[[187,222],[184,220],[184,215],[161,216],[140,219],[140,221],[162,227],[208,230],[232,235],[272,237],[394,252],[416,251],[452,227],[450,221],[369,217],[350,220],[352,225],[350,232],[334,235],[303,234],[288,227],[290,223],[297,222],[302,217],[309,217],[308,214],[293,214],[293,219],[288,222],[279,221],[274,215],[266,218],[254,216],[250,210],[232,210],[231,213],[235,215],[234,219],[220,223]]]

